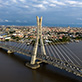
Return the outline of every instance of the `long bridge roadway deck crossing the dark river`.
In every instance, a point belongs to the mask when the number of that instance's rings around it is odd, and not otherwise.
[[[0,42],[0,48],[10,50],[12,52],[20,53],[20,54],[23,54],[23,55],[26,55],[29,57],[32,56],[32,51],[24,49],[24,47],[17,47],[17,45],[14,46],[12,44],[9,45],[9,43],[5,43],[5,44],[4,43],[5,42]],[[41,60],[42,62],[51,64],[55,67],[58,67],[60,69],[65,69],[68,72],[72,72],[73,74],[76,74],[77,76],[82,77],[82,67],[79,65],[74,65],[74,64],[68,63],[64,60],[60,60],[60,59],[57,59],[57,58],[52,57],[52,56],[41,55],[41,54],[37,55],[37,59]]]

